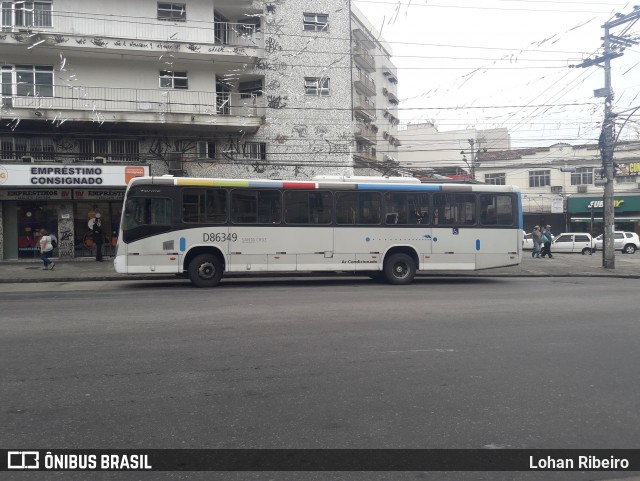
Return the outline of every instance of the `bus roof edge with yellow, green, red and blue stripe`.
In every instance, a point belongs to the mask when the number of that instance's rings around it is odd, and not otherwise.
[[[371,179],[371,180],[369,180]],[[244,188],[280,188],[280,189],[335,189],[335,190],[415,190],[446,192],[519,192],[511,185],[493,184],[460,184],[460,183],[420,183],[409,180],[406,183],[384,182],[384,177],[343,177],[342,180],[270,180],[270,179],[221,179],[201,177],[174,177],[163,175],[157,177],[135,177],[129,182],[134,185],[176,185],[183,187],[244,187]],[[388,179],[388,178],[387,178]]]

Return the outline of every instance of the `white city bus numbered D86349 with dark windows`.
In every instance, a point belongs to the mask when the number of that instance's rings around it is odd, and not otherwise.
[[[136,177],[114,266],[213,287],[224,274],[327,273],[409,284],[418,271],[522,260],[517,187],[384,177]]]

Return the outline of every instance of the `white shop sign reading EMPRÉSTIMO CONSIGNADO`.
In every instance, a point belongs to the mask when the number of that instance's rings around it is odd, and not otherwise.
[[[125,187],[146,165],[0,165],[0,187]]]

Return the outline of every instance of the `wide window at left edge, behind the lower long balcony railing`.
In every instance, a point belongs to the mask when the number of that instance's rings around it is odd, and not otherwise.
[[[2,96],[53,97],[53,67],[45,65],[4,65]],[[3,104],[5,104],[3,100]]]

